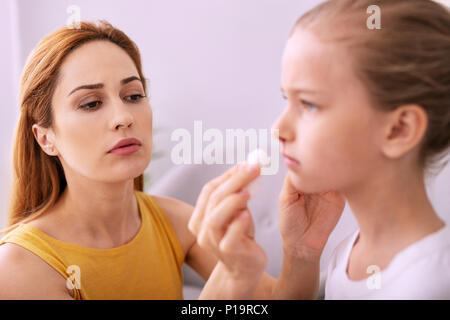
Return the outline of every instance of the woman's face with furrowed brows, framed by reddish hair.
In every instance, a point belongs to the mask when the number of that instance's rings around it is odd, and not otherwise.
[[[93,41],[64,60],[52,98],[49,130],[66,177],[120,182],[141,175],[152,153],[152,110],[133,60],[116,44]],[[134,153],[110,153],[136,138]]]

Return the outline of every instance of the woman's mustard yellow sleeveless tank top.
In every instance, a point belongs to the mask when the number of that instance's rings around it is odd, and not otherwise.
[[[152,196],[135,191],[141,226],[128,243],[97,249],[50,237],[20,224],[0,239],[47,262],[81,299],[183,299],[184,253],[174,229]]]

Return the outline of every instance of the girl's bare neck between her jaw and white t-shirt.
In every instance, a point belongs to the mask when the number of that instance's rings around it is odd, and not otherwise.
[[[406,168],[378,173],[344,192],[358,221],[364,248],[401,248],[441,229],[422,174]]]

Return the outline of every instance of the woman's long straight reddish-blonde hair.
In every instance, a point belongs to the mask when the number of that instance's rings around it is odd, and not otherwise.
[[[64,27],[42,39],[28,56],[20,83],[20,117],[13,152],[13,185],[7,228],[29,222],[55,205],[67,182],[59,158],[49,156],[34,138],[32,125],[52,125],[52,96],[64,58],[81,45],[105,40],[115,43],[130,56],[139,76],[142,65],[139,49],[128,36],[111,24],[81,22],[79,28]],[[143,81],[146,91],[145,81]],[[134,179],[134,188],[143,191],[143,175]]]

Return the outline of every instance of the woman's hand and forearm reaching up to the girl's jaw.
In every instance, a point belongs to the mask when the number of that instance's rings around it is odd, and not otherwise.
[[[344,206],[342,194],[305,194],[286,175],[278,203],[284,259],[272,299],[317,298],[320,256]]]

